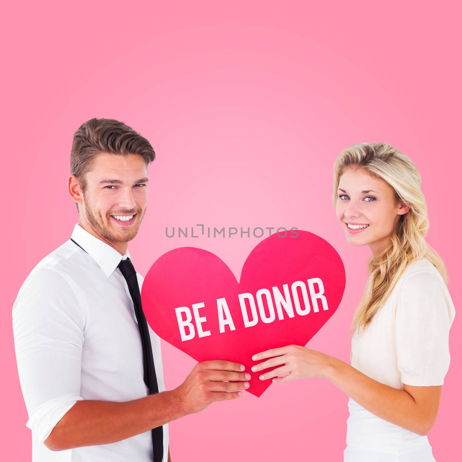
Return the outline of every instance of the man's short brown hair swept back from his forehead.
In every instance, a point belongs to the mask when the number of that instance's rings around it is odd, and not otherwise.
[[[79,181],[80,190],[86,189],[85,173],[90,170],[95,155],[139,154],[146,166],[156,158],[156,153],[146,138],[133,128],[114,119],[90,119],[74,133],[71,150],[71,175]],[[77,210],[79,210],[79,205]]]

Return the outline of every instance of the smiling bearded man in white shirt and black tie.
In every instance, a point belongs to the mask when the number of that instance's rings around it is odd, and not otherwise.
[[[216,360],[165,391],[128,253],[154,158],[116,120],[91,119],[74,134],[68,190],[79,222],[32,270],[12,312],[33,461],[170,462],[168,422],[249,386],[243,365]]]

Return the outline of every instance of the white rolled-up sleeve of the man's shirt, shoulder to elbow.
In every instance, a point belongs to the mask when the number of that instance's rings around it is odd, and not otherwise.
[[[66,274],[35,269],[13,305],[19,382],[26,426],[45,441],[80,396],[85,314]]]

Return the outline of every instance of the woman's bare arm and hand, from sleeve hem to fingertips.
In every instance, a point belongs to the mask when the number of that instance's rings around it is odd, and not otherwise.
[[[305,346],[283,346],[252,357],[254,361],[266,358],[271,359],[253,366],[252,371],[280,367],[265,372],[261,380],[273,378],[273,382],[280,383],[296,378],[325,377],[377,417],[418,435],[426,435],[435,423],[441,385],[414,387],[404,384],[403,390],[395,389],[367,377],[340,359]],[[278,377],[287,372],[285,377]]]

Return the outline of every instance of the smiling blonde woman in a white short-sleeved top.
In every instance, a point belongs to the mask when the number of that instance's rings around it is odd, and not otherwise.
[[[344,462],[435,461],[426,435],[449,368],[455,310],[443,261],[424,239],[419,172],[386,143],[350,146],[335,162],[333,194],[347,242],[372,251],[353,316],[351,365],[290,345],[256,353],[262,362],[252,371],[277,366],[260,379],[326,377],[344,391]]]

